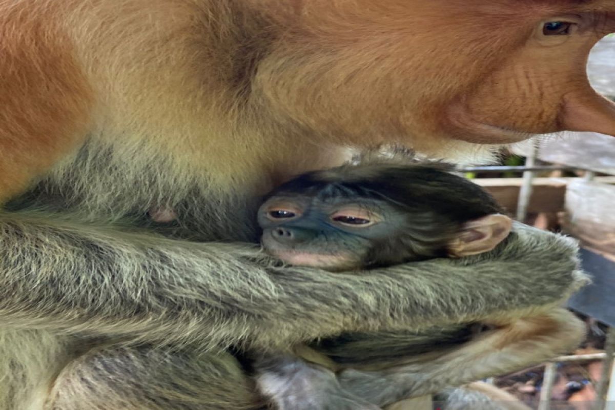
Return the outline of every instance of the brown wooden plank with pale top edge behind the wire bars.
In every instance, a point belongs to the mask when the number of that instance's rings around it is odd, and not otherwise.
[[[615,139],[615,138],[614,138]],[[529,213],[559,212],[564,210],[566,186],[581,178],[534,178],[533,192],[528,205]],[[517,211],[522,178],[476,178],[472,182],[485,188],[512,215]],[[596,182],[615,184],[615,176],[598,176]]]

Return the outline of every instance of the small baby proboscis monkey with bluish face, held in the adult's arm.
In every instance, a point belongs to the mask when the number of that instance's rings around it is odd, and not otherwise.
[[[386,162],[346,165],[292,179],[269,194],[258,222],[264,250],[277,258],[296,266],[357,274],[371,267],[488,252],[512,229],[511,219],[493,197],[466,178],[433,165]],[[413,360],[410,366],[406,361],[387,372],[344,372],[343,366],[327,369],[290,353],[267,353],[255,362],[258,384],[284,410],[378,409],[405,398],[410,391],[404,386],[410,383],[403,377],[406,371],[423,374],[426,380],[445,380],[446,372],[466,371],[467,381],[474,381],[471,377],[520,368],[577,342],[581,332],[569,312],[553,306],[536,311],[540,313],[527,318],[528,313],[521,312],[515,318],[493,318],[484,325],[495,330],[460,342],[440,358],[431,356],[421,365]],[[541,349],[528,354],[525,350],[532,342]],[[432,360],[450,365],[434,374]],[[413,384],[414,394],[421,389],[416,380]],[[429,393],[428,385],[424,393]]]

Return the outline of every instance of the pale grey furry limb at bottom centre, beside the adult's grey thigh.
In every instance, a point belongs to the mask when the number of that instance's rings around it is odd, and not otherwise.
[[[265,353],[253,363],[256,383],[279,410],[379,410],[339,385],[324,366],[292,353]]]

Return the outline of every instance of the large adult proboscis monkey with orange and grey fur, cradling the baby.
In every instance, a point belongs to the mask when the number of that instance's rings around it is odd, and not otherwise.
[[[468,160],[528,133],[615,134],[584,73],[609,31],[606,0],[0,2],[0,408],[253,409],[228,345],[560,299],[574,250],[538,232],[472,275],[339,277],[181,239],[255,240],[258,196],[347,146]],[[140,215],[169,207],[164,239]]]

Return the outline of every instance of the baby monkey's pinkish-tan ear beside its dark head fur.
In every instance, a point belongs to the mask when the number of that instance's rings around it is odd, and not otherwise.
[[[499,213],[474,219],[463,224],[448,244],[448,255],[461,258],[490,251],[510,234],[510,229],[512,220]]]

